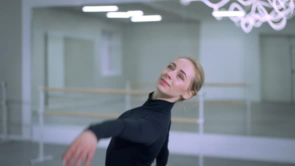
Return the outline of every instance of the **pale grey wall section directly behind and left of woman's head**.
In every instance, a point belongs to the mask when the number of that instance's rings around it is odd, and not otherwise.
[[[123,33],[123,65],[129,80],[155,82],[178,56],[198,57],[198,23],[132,23]]]

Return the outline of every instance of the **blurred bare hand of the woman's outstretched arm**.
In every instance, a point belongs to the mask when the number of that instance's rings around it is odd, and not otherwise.
[[[82,132],[67,148],[62,156],[64,165],[79,166],[86,159],[84,166],[88,166],[96,150],[97,138],[95,134],[86,130]]]

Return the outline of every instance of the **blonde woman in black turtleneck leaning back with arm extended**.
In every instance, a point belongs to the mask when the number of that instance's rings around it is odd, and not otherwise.
[[[179,57],[163,69],[156,89],[140,106],[115,120],[90,125],[69,146],[65,165],[89,165],[100,138],[112,137],[106,150],[106,166],[166,165],[171,108],[176,101],[196,95],[204,82],[204,71],[195,59]]]

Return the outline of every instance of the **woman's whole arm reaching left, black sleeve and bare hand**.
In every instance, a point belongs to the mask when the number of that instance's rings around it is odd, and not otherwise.
[[[84,158],[87,158],[84,165],[88,165],[100,138],[119,136],[133,142],[152,143],[157,139],[160,128],[159,121],[154,117],[118,118],[90,125],[70,144],[62,159],[65,165],[72,165],[75,162],[75,165],[78,166]]]

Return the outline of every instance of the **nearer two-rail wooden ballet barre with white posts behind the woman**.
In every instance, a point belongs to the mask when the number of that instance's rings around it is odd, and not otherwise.
[[[93,88],[56,88],[56,87],[40,87],[39,88],[39,109],[38,109],[38,119],[39,119],[39,152],[38,156],[35,159],[30,160],[31,164],[37,162],[43,162],[45,160],[51,160],[52,155],[44,155],[44,141],[43,141],[43,127],[44,127],[44,115],[50,116],[76,116],[76,117],[97,117],[97,118],[117,118],[119,114],[99,114],[91,112],[69,112],[63,110],[45,110],[44,109],[44,98],[45,92],[49,91],[62,91],[62,92],[71,92],[71,93],[100,93],[100,94],[125,94],[126,99],[130,99],[130,94],[133,95],[146,95],[150,93],[150,90],[132,90],[132,89],[93,89]],[[199,124],[199,133],[203,133],[203,93],[199,93],[199,118],[182,118],[182,117],[172,117],[172,122],[178,123],[193,123]],[[129,101],[128,101],[129,102]],[[129,102],[130,103],[130,102]]]

